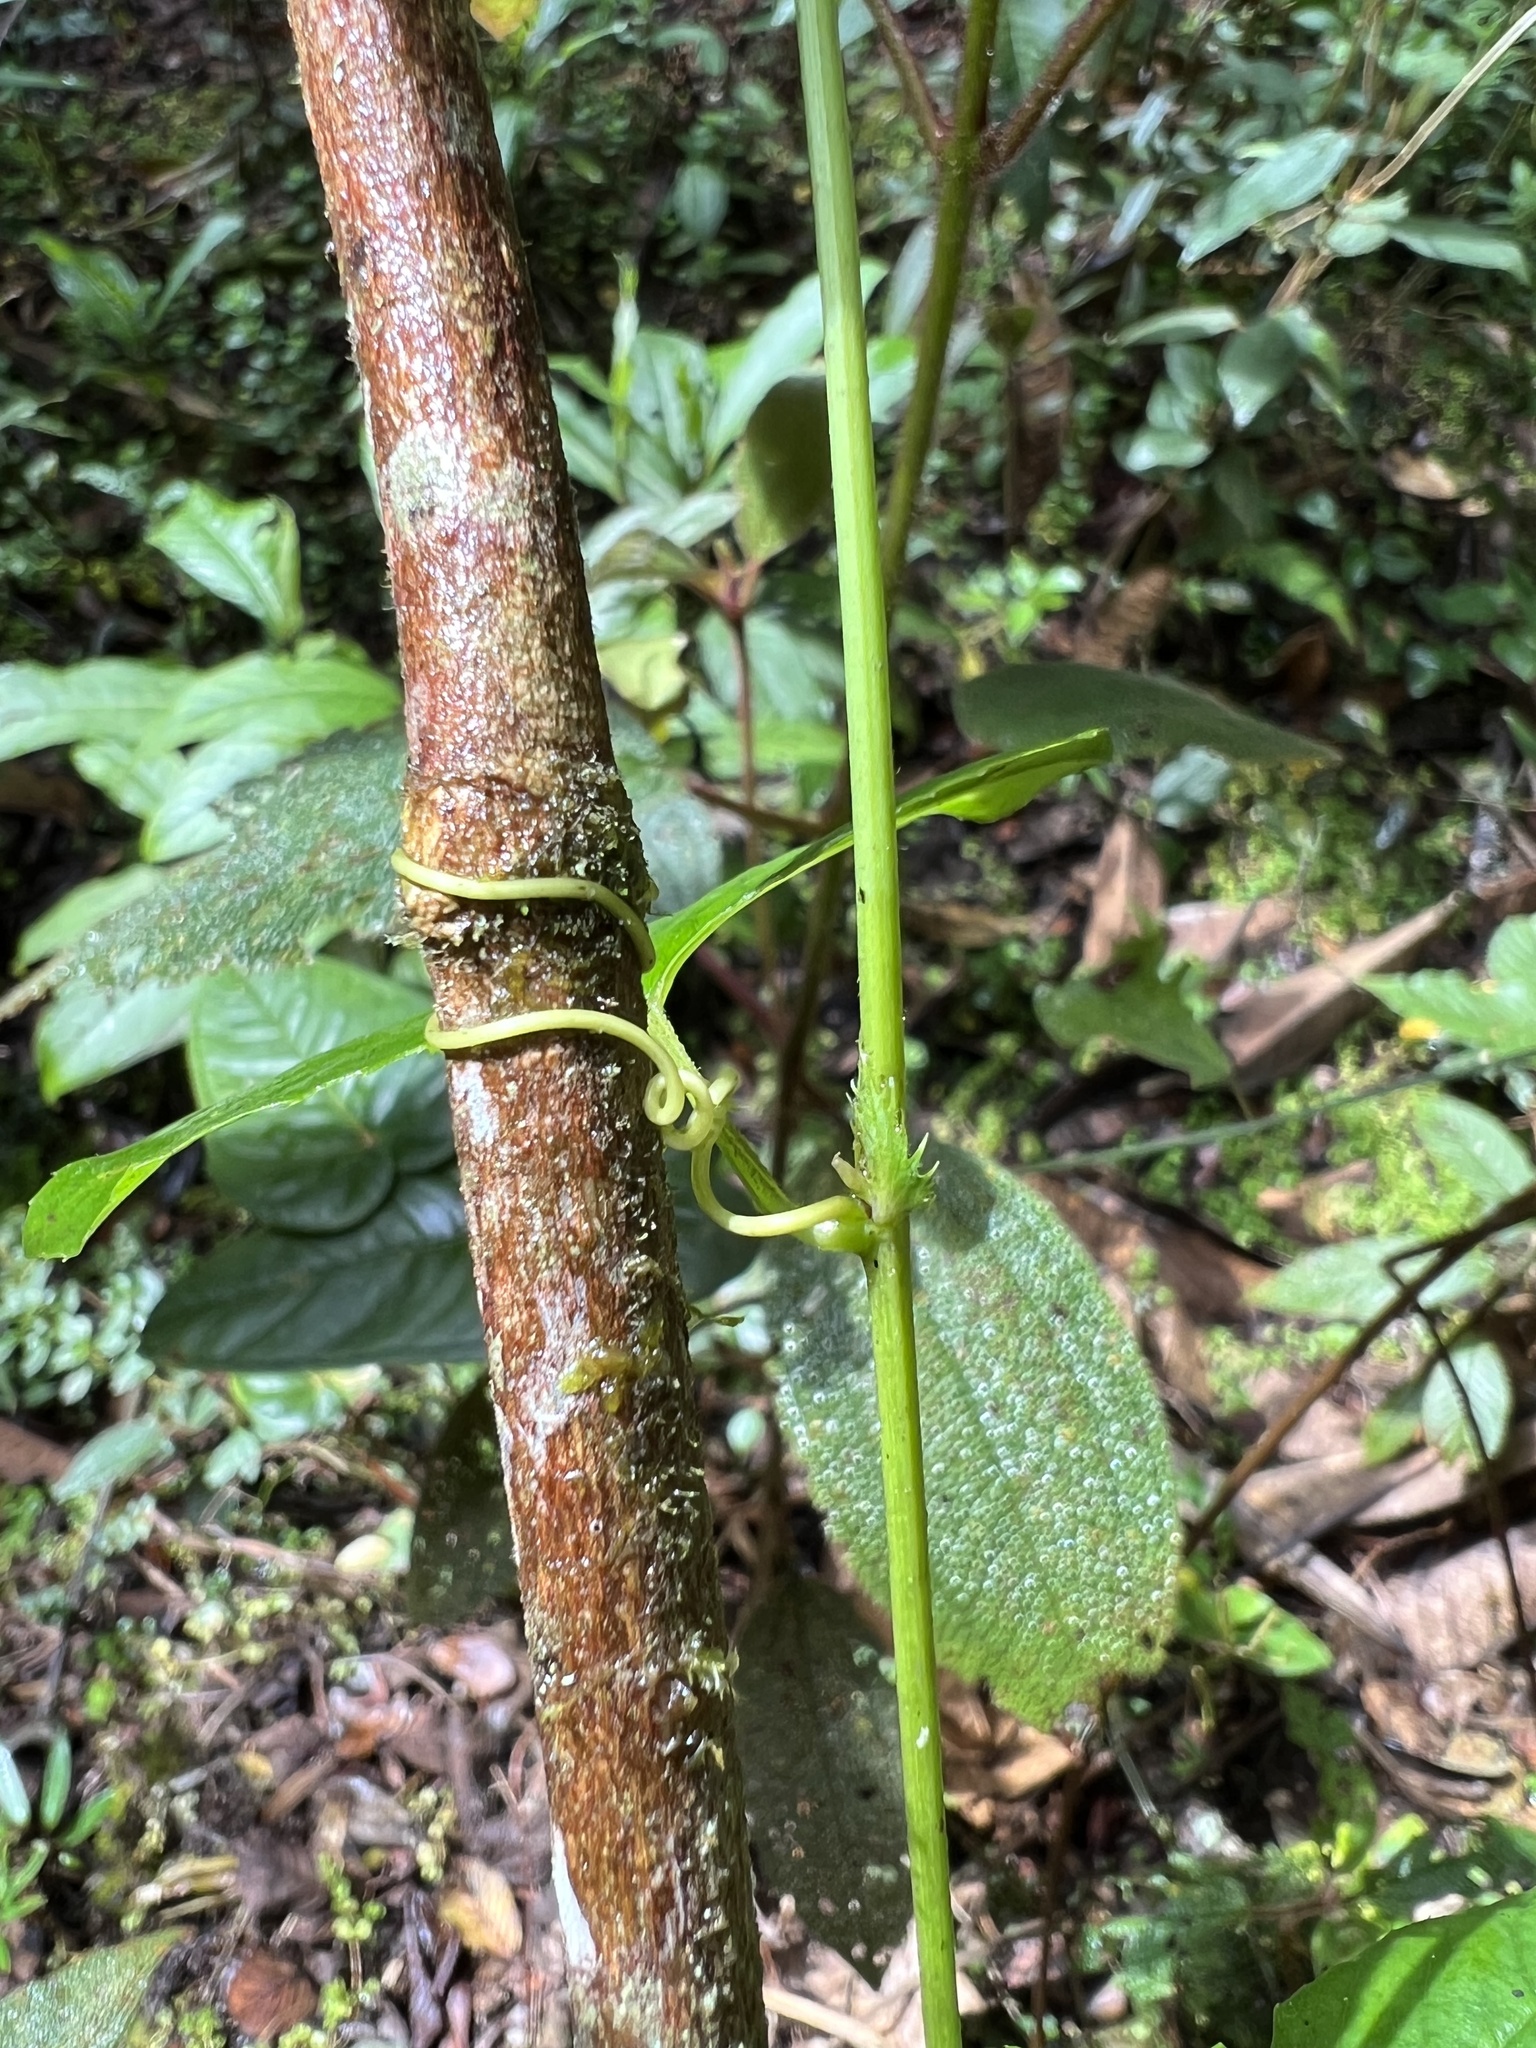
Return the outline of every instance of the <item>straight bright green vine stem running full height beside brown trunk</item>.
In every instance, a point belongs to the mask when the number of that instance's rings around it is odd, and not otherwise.
[[[977,4],[995,10],[995,0]],[[864,1270],[881,1409],[901,1778],[907,1802],[911,1903],[918,1917],[924,2040],[928,2048],[958,2048],[954,1919],[944,1841],[944,1757],[918,1415],[918,1339],[911,1317],[909,1208],[922,1194],[922,1176],[907,1147],[891,678],[864,301],[858,285],[858,209],[838,47],[838,0],[801,0],[799,43],[825,319],[838,590],[848,670],[860,1004],[854,1151],[862,1176],[860,1192],[877,1229],[877,1245],[864,1260]]]

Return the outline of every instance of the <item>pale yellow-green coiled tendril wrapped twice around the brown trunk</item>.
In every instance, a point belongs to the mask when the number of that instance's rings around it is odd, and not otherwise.
[[[596,903],[623,924],[639,956],[641,971],[655,961],[655,946],[641,913],[631,903],[625,903],[621,895],[614,895],[612,889],[604,889],[602,883],[563,874],[451,874],[444,868],[422,866],[420,860],[412,860],[406,852],[391,854],[389,864],[414,889],[430,889],[436,895],[457,897],[467,903],[535,903],[551,899]],[[655,1010],[649,1012],[649,1020],[655,1022]],[[766,1217],[739,1217],[735,1210],[725,1208],[711,1184],[711,1165],[715,1147],[729,1120],[735,1075],[721,1075],[719,1081],[707,1081],[692,1065],[674,1059],[657,1036],[639,1024],[631,1024],[629,1018],[614,1016],[608,1010],[526,1010],[516,1018],[492,1018],[485,1024],[463,1024],[457,1028],[444,1028],[432,1018],[426,1026],[426,1042],[440,1053],[469,1053],[481,1044],[532,1038],[549,1030],[598,1032],[604,1038],[618,1038],[623,1044],[635,1047],[637,1053],[643,1053],[651,1061],[655,1073],[645,1087],[645,1114],[657,1124],[668,1145],[676,1151],[692,1153],[688,1178],[694,1200],[711,1223],[717,1223],[723,1231],[731,1231],[733,1237],[809,1235],[811,1243],[823,1251],[858,1251],[862,1255],[874,1249],[874,1229],[868,1210],[848,1194],[831,1194],[821,1202],[803,1202],[799,1208],[778,1208]],[[682,1122],[684,1112],[692,1112],[686,1122]]]

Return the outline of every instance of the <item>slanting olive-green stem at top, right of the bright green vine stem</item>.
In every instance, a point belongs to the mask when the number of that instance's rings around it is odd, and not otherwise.
[[[901,422],[897,463],[885,502],[883,567],[885,588],[897,592],[907,569],[907,541],[918,510],[924,465],[934,442],[934,420],[944,389],[944,358],[954,328],[954,307],[965,279],[965,252],[981,178],[987,86],[997,41],[997,0],[971,0],[965,23],[965,57],[954,90],[954,119],[938,158],[938,217],[934,221],[934,272],[928,279],[924,322],[918,340],[918,381]]]

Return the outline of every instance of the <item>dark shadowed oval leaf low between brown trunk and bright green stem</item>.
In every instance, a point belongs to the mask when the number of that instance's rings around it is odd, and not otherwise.
[[[735,1677],[754,1862],[778,1898],[866,1966],[911,1917],[893,1683],[852,1604],[788,1577],[741,1632]]]

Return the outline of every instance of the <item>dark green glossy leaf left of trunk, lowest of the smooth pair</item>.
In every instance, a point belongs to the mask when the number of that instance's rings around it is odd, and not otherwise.
[[[410,1176],[354,1231],[225,1239],[174,1280],[139,1339],[203,1372],[424,1366],[485,1348],[451,1176]]]

